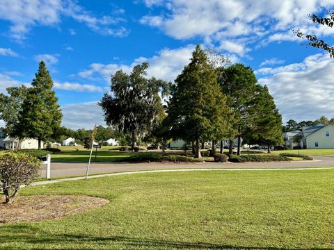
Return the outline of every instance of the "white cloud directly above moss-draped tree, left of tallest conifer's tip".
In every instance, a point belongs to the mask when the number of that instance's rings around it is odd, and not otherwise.
[[[82,78],[94,78],[102,76],[105,81],[109,82],[110,77],[116,71],[122,69],[124,72],[131,72],[132,67],[139,63],[148,62],[150,67],[148,69],[148,76],[154,76],[166,81],[174,81],[177,74],[182,72],[184,65],[190,63],[191,53],[195,48],[190,44],[179,49],[161,49],[157,56],[151,58],[136,58],[133,63],[129,65],[111,63],[104,65],[102,63],[93,63],[90,69],[79,72]]]

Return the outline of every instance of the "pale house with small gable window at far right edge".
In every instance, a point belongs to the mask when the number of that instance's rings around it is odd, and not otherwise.
[[[332,124],[305,126],[295,135],[299,134],[302,135],[301,147],[303,149],[334,149],[334,126]],[[289,144],[292,144],[292,141],[293,137],[289,140]]]

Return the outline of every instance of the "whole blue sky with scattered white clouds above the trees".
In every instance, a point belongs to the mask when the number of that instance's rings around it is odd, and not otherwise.
[[[149,76],[173,81],[195,44],[253,67],[288,119],[334,117],[334,59],[306,46],[292,29],[334,44],[334,28],[309,13],[333,0],[2,0],[0,91],[31,83],[45,60],[63,109],[63,125],[104,124],[96,105],[111,74],[147,61]]]

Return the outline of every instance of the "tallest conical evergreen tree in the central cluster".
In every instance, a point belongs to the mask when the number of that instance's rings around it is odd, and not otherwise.
[[[217,83],[216,72],[199,45],[175,83],[166,117],[170,132],[185,142],[195,141],[195,157],[200,158],[200,141],[221,138],[227,129],[230,109]]]

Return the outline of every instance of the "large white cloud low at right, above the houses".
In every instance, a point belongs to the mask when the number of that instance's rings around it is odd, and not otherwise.
[[[334,117],[334,60],[308,56],[302,63],[271,68],[259,83],[268,85],[285,121]]]

